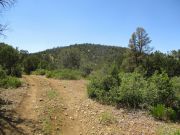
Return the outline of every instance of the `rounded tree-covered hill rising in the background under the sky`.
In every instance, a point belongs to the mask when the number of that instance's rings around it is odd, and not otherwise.
[[[82,68],[84,66],[99,69],[112,62],[121,64],[126,49],[86,43],[57,47],[31,55],[38,56],[42,60],[42,68],[46,69]]]

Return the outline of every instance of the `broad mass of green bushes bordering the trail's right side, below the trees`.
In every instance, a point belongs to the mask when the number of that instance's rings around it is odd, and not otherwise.
[[[155,72],[149,78],[137,72],[120,73],[117,77],[112,71],[107,74],[96,73],[91,78],[88,85],[90,98],[123,107],[149,109],[157,106],[151,110],[153,116],[162,120],[178,118],[180,100],[166,73]]]

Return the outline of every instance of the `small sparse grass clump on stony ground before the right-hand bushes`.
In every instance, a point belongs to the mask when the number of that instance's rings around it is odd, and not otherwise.
[[[109,124],[113,124],[115,122],[116,122],[116,119],[113,116],[113,114],[108,113],[108,112],[103,112],[100,114],[100,123],[101,124],[109,125]]]

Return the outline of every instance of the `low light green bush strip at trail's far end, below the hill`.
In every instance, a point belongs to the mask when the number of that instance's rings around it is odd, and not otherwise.
[[[56,79],[64,79],[64,80],[78,80],[81,79],[81,72],[78,70],[70,70],[70,69],[63,69],[63,70],[54,70],[48,71],[46,73],[46,77],[48,78],[56,78]]]

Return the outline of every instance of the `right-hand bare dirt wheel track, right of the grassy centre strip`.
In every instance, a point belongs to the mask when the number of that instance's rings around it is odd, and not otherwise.
[[[46,79],[43,78],[42,79]],[[55,80],[46,79],[51,87],[59,93],[63,113],[61,134],[81,135],[83,134],[82,123],[77,119],[78,112],[75,108],[82,100],[86,99],[84,80]]]

